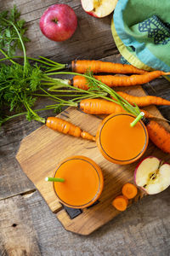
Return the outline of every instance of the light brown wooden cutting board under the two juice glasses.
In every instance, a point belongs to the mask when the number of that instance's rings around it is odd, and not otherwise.
[[[145,95],[144,90],[140,86],[135,86],[133,89],[126,89],[126,91],[132,95]],[[161,117],[161,113],[159,113],[156,107],[146,109],[150,110],[150,113]],[[93,135],[95,135],[98,125],[101,122],[101,117],[82,113],[75,108],[67,108],[58,116],[71,121],[71,123],[80,126],[83,130]],[[161,124],[169,130],[169,125],[166,122],[161,121]],[[79,215],[76,218],[71,218],[54,194],[53,184],[45,182],[44,178],[54,176],[54,171],[59,161],[77,154],[93,159],[101,167],[104,173],[105,187],[98,204],[83,209],[80,211],[82,212],[81,214],[76,211],[76,215]],[[144,156],[147,155],[155,155],[163,160],[170,160],[169,154],[162,153],[152,143],[149,143],[149,147],[144,154]],[[59,132],[50,130],[45,125],[42,125],[41,128],[22,140],[16,159],[19,161],[23,172],[35,184],[47,202],[48,207],[52,212],[56,213],[56,217],[63,224],[65,230],[70,230],[81,235],[89,235],[120,213],[111,206],[111,201],[116,195],[121,194],[124,183],[133,183],[133,172],[135,166],[138,164],[138,162],[127,166],[113,164],[105,160],[102,154],[100,154],[95,142],[60,134]],[[133,202],[139,201],[143,196],[144,192],[139,190],[138,195],[129,202],[129,207]]]

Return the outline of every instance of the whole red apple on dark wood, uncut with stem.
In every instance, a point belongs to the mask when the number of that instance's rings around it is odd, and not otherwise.
[[[65,41],[77,29],[77,15],[67,4],[54,4],[43,13],[40,29],[50,40]]]

